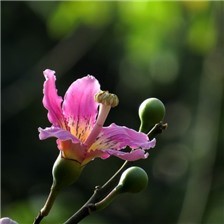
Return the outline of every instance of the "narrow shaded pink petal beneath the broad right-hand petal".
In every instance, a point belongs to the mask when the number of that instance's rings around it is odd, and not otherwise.
[[[145,153],[142,149],[136,149],[131,152],[122,152],[117,150],[105,150],[104,155],[101,157],[102,159],[108,158],[108,156],[116,156],[123,160],[135,161],[139,159],[146,159],[148,157],[148,153]]]

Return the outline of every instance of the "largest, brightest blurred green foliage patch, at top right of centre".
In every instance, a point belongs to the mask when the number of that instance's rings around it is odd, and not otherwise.
[[[127,28],[127,55],[140,64],[172,47],[178,38],[175,33],[183,24],[180,5],[175,2],[121,3],[119,14]]]

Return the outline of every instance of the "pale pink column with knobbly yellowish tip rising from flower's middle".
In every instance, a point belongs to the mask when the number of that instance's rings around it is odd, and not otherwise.
[[[90,135],[84,143],[87,148],[89,148],[94,143],[97,136],[99,135],[111,107],[116,107],[119,103],[118,97],[115,94],[109,93],[108,91],[100,91],[97,93],[95,95],[95,101],[100,104],[99,114]]]

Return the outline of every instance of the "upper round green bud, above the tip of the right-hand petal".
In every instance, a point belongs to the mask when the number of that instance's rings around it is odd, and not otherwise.
[[[148,133],[155,124],[163,120],[165,111],[165,106],[159,99],[148,98],[144,100],[138,110],[141,121],[140,131]]]

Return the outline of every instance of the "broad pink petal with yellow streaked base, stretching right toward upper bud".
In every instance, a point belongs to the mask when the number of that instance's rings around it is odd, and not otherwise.
[[[155,139],[150,141],[148,136],[142,132],[137,132],[125,126],[111,124],[109,127],[102,128],[90,150],[120,150],[127,146],[132,149],[149,149],[153,148],[155,143]]]

